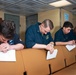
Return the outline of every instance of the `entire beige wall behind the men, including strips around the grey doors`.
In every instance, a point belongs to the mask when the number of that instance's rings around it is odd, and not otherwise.
[[[64,13],[69,14],[69,21],[72,22],[75,26],[76,16],[72,13],[61,9],[61,18],[60,18],[60,9],[53,9],[45,12],[38,13],[38,21],[42,22],[44,19],[51,19],[54,23],[54,29],[51,31],[52,36],[54,37],[55,32],[60,28],[64,23]],[[0,17],[4,20],[4,12],[0,11]],[[60,23],[61,21],[61,23]],[[26,17],[20,15],[20,37],[24,41],[25,30],[26,30]]]

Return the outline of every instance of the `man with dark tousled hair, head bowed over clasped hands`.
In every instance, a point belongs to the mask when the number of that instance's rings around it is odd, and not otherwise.
[[[15,24],[12,21],[2,21],[0,23],[0,51],[21,50],[24,48],[23,42],[15,33]]]

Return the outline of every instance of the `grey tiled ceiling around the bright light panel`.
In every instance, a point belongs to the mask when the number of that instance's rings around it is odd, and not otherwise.
[[[0,0],[0,10],[20,15],[32,15],[41,11],[55,9],[49,3],[58,0]],[[76,14],[76,0],[68,0],[72,5],[63,7]]]

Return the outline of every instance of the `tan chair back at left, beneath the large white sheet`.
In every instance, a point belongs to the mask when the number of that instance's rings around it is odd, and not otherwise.
[[[0,75],[23,75],[24,66],[21,51],[16,51],[15,62],[0,61]]]

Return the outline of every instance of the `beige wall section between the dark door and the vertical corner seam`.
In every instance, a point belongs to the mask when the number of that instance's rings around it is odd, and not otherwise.
[[[59,29],[59,27],[60,27],[59,14],[60,14],[59,9],[54,9],[54,10],[49,10],[49,11],[38,13],[39,22],[42,22],[44,19],[50,19],[53,21],[54,29],[51,31],[53,37],[54,37],[54,34],[57,31],[57,29]]]

